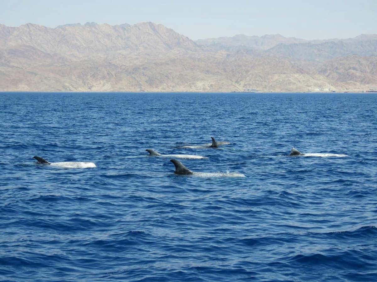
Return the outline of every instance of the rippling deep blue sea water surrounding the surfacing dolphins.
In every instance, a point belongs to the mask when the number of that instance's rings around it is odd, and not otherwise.
[[[3,92],[0,130],[1,281],[377,280],[376,94]]]

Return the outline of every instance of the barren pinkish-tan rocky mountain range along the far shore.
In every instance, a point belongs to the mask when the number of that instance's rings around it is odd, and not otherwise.
[[[0,24],[0,91],[369,91],[377,35],[193,41],[161,24]]]

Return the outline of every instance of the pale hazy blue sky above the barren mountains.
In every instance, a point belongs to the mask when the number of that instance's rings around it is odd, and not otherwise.
[[[377,0],[0,0],[0,24],[57,27],[152,21],[190,39],[280,33],[303,39],[377,33]]]

